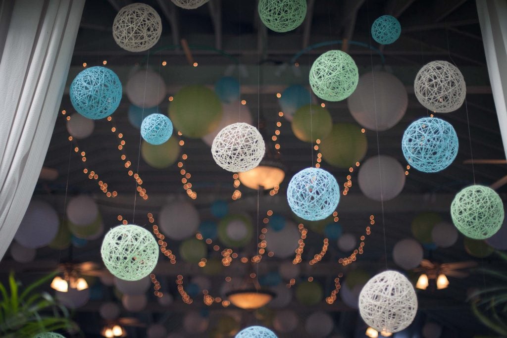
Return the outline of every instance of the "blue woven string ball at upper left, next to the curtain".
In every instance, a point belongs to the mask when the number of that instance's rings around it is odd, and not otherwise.
[[[81,71],[70,84],[70,102],[85,118],[99,120],[113,114],[122,99],[122,84],[116,73],[105,67]]]

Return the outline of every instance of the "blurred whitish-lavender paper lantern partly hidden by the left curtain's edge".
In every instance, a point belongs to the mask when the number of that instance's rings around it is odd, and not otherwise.
[[[59,222],[58,214],[49,203],[31,200],[14,239],[26,248],[46,246],[56,237]]]

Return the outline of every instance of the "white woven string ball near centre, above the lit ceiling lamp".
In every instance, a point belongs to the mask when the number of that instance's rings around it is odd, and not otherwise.
[[[216,164],[225,170],[243,172],[259,165],[266,147],[256,127],[239,122],[222,129],[211,144]]]

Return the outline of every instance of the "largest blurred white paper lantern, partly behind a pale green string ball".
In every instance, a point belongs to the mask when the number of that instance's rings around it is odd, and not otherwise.
[[[400,122],[408,102],[405,85],[385,71],[361,75],[357,88],[347,98],[354,120],[367,129],[377,131],[387,130]]]

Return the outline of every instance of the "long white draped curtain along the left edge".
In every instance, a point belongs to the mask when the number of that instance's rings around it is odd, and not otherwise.
[[[84,3],[0,0],[0,259],[46,157]]]

